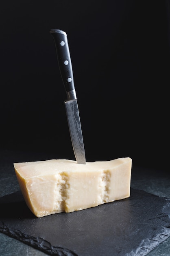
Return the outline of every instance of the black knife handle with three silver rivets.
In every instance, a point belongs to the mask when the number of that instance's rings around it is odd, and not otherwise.
[[[54,39],[59,69],[65,90],[66,92],[70,92],[75,88],[67,34],[60,29],[51,29],[50,34]]]

